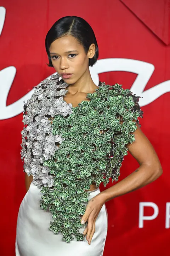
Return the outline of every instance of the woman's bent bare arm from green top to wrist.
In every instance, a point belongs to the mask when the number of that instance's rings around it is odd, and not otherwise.
[[[102,191],[99,195],[104,202],[144,187],[162,175],[162,166],[153,146],[145,134],[143,134],[138,124],[136,125],[137,129],[134,132],[135,141],[132,144],[127,144],[126,147],[129,149],[130,154],[138,161],[140,167],[122,181]]]

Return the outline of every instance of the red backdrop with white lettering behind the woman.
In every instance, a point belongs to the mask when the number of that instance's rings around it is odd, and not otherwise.
[[[157,181],[106,203],[109,223],[103,256],[168,256],[170,1],[1,0],[0,6],[0,254],[15,255],[17,214],[26,193],[20,158],[23,100],[33,86],[55,73],[46,65],[47,31],[59,18],[75,15],[90,23],[97,38],[94,82],[119,83],[143,97],[141,129],[163,167]],[[119,180],[137,167],[128,154]]]

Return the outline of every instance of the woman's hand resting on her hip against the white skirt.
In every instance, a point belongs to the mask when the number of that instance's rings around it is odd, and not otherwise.
[[[83,234],[87,234],[86,240],[88,241],[89,245],[91,244],[91,239],[95,233],[95,222],[97,216],[100,213],[103,204],[105,203],[100,194],[101,193],[97,194],[97,196],[89,200],[86,206],[85,213],[81,218],[81,224],[84,224],[86,221],[88,221]],[[84,223],[82,223],[82,220],[84,220]]]

